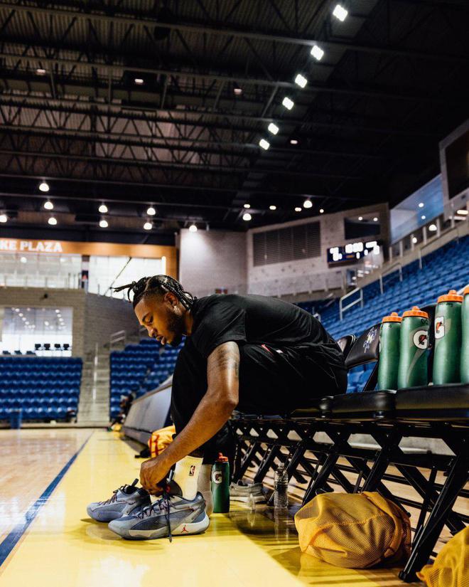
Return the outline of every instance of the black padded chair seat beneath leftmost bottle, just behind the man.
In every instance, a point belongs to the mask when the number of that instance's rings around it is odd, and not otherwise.
[[[393,390],[362,391],[334,396],[331,419],[380,418],[392,414],[396,392]]]

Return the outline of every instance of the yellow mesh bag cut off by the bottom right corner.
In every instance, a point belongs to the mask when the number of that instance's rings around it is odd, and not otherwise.
[[[469,527],[453,536],[417,576],[428,587],[469,587]]]

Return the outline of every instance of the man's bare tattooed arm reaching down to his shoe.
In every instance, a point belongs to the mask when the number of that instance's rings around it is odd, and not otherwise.
[[[207,359],[207,393],[192,418],[161,456],[141,465],[141,484],[149,491],[175,462],[210,440],[230,418],[239,401],[239,348],[236,342],[220,344]]]

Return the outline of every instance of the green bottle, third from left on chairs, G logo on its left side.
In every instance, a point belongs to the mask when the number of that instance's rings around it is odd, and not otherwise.
[[[456,290],[438,297],[435,308],[433,385],[455,384],[460,379],[461,307]]]

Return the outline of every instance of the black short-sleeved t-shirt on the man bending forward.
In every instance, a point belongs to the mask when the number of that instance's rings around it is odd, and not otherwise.
[[[193,346],[207,359],[229,341],[291,347],[312,342],[342,353],[323,325],[300,307],[262,295],[210,295],[196,299],[191,309]]]

